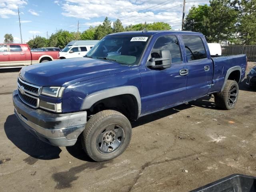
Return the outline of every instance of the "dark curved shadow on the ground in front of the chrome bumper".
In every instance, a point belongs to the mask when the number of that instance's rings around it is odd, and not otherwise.
[[[7,117],[4,131],[15,146],[33,158],[42,160],[60,158],[59,155],[62,150],[59,147],[44,143],[33,136],[20,124],[14,114]],[[29,160],[28,158],[25,161]]]

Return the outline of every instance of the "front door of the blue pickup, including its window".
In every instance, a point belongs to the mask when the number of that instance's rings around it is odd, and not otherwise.
[[[183,102],[186,94],[187,76],[180,75],[186,68],[178,39],[174,35],[160,36],[150,53],[150,57],[159,58],[161,50],[170,50],[172,64],[166,69],[141,68],[142,112],[141,115],[162,110]],[[157,63],[156,63],[157,64]]]

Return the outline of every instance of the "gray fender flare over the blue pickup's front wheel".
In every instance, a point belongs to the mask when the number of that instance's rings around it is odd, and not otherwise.
[[[136,86],[121,86],[115,88],[108,88],[89,94],[84,99],[81,110],[90,109],[92,105],[102,99],[106,99],[113,96],[130,94],[133,95],[138,103],[138,117],[141,112],[141,98],[140,92]]]

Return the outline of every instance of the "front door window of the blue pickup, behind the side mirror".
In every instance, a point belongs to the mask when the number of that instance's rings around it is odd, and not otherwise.
[[[162,36],[158,38],[152,48],[151,57],[160,58],[160,51],[162,50],[170,50],[172,63],[179,63],[182,61],[180,46],[176,36]],[[158,62],[156,62],[156,64],[158,64]]]

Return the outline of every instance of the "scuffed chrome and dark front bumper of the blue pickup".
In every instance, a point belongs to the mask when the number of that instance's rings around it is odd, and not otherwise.
[[[84,130],[86,111],[54,114],[24,104],[18,90],[12,94],[14,113],[21,124],[40,140],[54,146],[72,146]]]

